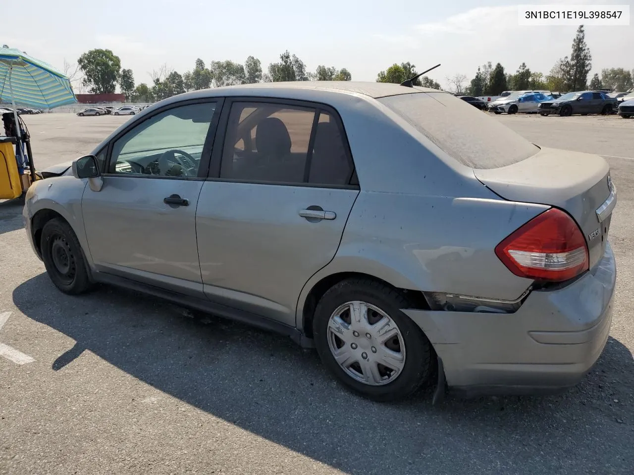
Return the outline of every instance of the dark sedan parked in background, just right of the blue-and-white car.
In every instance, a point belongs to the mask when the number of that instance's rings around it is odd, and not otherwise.
[[[540,115],[559,114],[611,114],[616,111],[616,99],[600,91],[568,92],[555,101],[545,101],[538,106]]]

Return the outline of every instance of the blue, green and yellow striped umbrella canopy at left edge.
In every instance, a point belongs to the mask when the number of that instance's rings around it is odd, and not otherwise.
[[[48,109],[77,102],[65,75],[13,48],[0,48],[0,99]]]

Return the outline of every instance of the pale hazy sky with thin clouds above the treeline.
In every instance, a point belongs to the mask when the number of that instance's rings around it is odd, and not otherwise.
[[[266,71],[286,49],[314,71],[347,68],[353,80],[410,61],[449,88],[456,73],[500,62],[515,72],[525,62],[547,74],[570,54],[574,26],[520,26],[517,4],[504,0],[20,0],[19,16],[0,23],[0,44],[17,47],[64,72],[93,48],[112,49],[136,84],[162,65],[180,73],[201,58],[243,63],[255,56]],[[548,0],[521,4],[629,4],[634,0]],[[28,15],[28,16],[27,16]],[[632,20],[634,21],[634,20]],[[634,68],[634,24],[587,26],[592,73]],[[588,80],[590,77],[588,78]],[[76,91],[77,92],[77,91]]]

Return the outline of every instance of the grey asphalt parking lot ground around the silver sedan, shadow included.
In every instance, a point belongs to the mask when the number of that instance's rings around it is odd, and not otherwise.
[[[39,167],[124,117],[27,117]],[[102,286],[61,294],[0,203],[0,475],[631,474],[634,120],[496,117],[534,143],[606,156],[618,189],[611,338],[558,396],[381,404],[287,338]],[[120,245],[125,245],[122,241]]]

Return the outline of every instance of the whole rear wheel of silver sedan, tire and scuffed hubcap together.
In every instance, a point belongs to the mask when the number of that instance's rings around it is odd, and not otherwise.
[[[401,308],[411,308],[401,293],[368,279],[335,284],[317,305],[313,336],[321,361],[359,395],[399,400],[430,379],[432,346]]]

